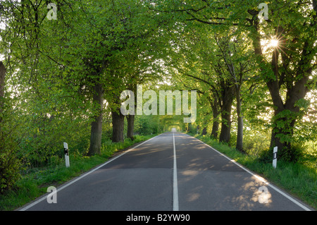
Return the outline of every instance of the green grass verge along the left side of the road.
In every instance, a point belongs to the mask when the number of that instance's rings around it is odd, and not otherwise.
[[[0,195],[0,210],[8,211],[21,207],[37,197],[44,195],[49,186],[56,188],[70,179],[93,169],[106,162],[113,154],[126,148],[149,140],[155,135],[136,136],[135,140],[127,139],[125,142],[112,143],[104,142],[100,155],[83,157],[80,154],[70,154],[70,167],[66,168],[65,162],[61,159],[58,163],[45,168],[32,168],[23,174],[22,178],[15,184],[15,187]]]

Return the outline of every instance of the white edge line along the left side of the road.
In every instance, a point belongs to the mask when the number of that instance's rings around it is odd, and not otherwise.
[[[163,133],[161,133],[160,135],[162,135],[162,134],[163,134]],[[148,141],[150,141],[150,140],[152,140],[152,139],[154,139],[154,138],[157,138],[157,137],[159,137],[160,135],[157,135],[157,136],[155,136],[155,137],[153,137],[153,138],[150,138],[149,140],[146,140],[146,141],[142,142],[141,144],[139,144],[139,145],[137,145],[137,146],[135,146],[135,147],[132,147],[130,150],[127,150],[127,151],[123,152],[122,154],[119,154],[117,157],[114,157],[113,159],[108,160],[108,161],[105,162],[104,164],[101,164],[100,166],[97,166],[95,169],[92,169],[91,171],[88,171],[87,173],[82,174],[82,175],[79,176],[78,178],[75,178],[75,180],[70,181],[69,183],[66,183],[65,185],[63,185],[63,186],[61,186],[60,188],[58,188],[58,189],[56,190],[56,193],[58,193],[59,190],[63,190],[64,188],[67,188],[68,186],[72,185],[73,183],[79,181],[80,179],[84,178],[85,176],[88,176],[89,174],[92,174],[94,171],[97,171],[97,170],[100,169],[102,166],[105,166],[106,164],[108,164],[108,163],[110,163],[110,162],[113,162],[113,160],[116,160],[116,159],[118,159],[119,157],[122,157],[123,154],[128,153],[128,152],[134,150],[135,148],[139,147],[140,145],[143,145],[144,143],[146,143],[146,142],[148,142]],[[41,197],[39,200],[36,200],[35,202],[30,203],[30,205],[27,205],[26,207],[23,207],[22,209],[20,209],[20,210],[18,210],[18,211],[25,211],[25,210],[27,210],[27,209],[30,209],[30,207],[33,207],[33,206],[37,205],[39,202],[42,202],[43,200],[46,200],[47,195],[49,195],[49,193],[46,194],[45,196]]]

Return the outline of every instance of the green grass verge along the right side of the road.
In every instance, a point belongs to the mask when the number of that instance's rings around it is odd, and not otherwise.
[[[242,154],[234,148],[223,145],[207,136],[194,136],[231,159],[234,159],[235,162],[242,164],[276,186],[301,199],[307,205],[317,209],[316,162],[306,163],[307,159],[299,160],[297,163],[278,161],[278,166],[274,169],[271,163],[260,162],[254,155]],[[308,158],[316,160],[316,157],[313,155]]]

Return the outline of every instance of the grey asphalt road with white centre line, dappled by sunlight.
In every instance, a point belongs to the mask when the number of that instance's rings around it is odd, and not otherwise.
[[[311,209],[184,133],[143,142],[58,187],[55,197],[56,203],[49,204],[44,195],[20,210]]]

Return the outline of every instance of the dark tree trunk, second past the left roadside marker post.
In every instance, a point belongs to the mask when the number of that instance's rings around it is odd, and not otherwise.
[[[123,130],[125,128],[125,116],[121,114],[120,108],[111,111],[112,114],[112,142],[123,142]]]

